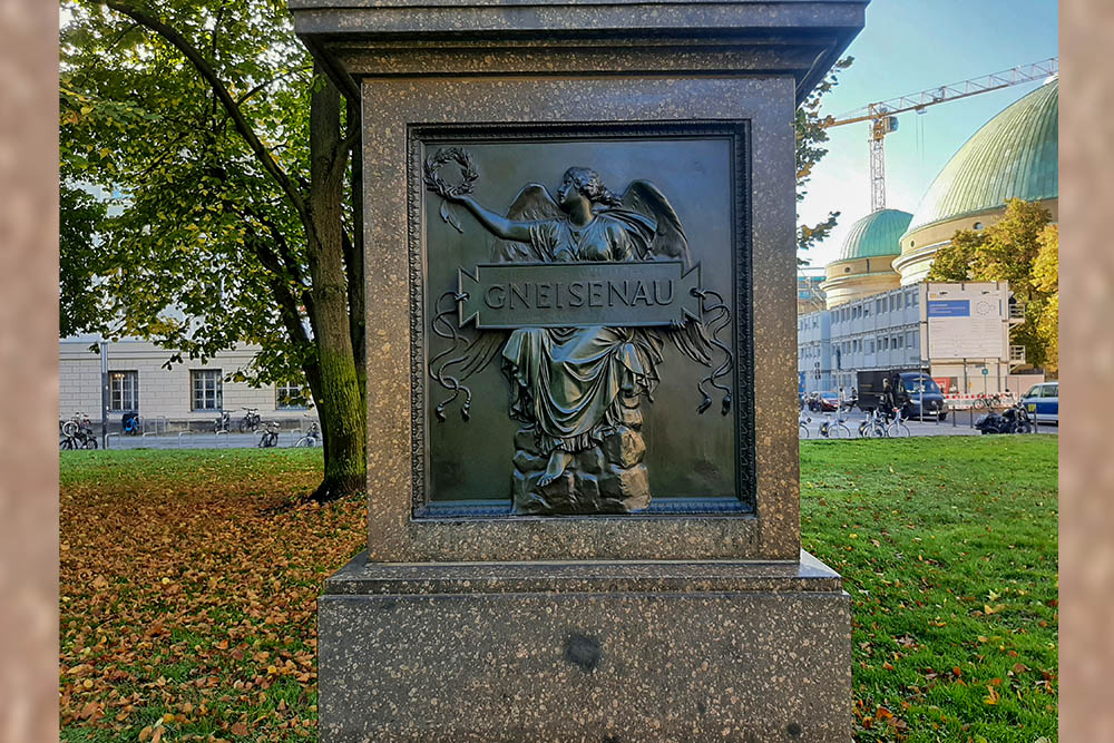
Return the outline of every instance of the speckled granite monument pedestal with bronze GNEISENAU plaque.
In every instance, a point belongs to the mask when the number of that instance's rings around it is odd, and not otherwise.
[[[794,118],[867,0],[289,4],[363,130],[368,551],[319,603],[322,743],[849,740]]]

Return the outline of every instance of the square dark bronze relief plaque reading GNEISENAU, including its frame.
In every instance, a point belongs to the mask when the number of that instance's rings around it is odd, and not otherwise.
[[[416,517],[752,511],[746,124],[409,135]]]

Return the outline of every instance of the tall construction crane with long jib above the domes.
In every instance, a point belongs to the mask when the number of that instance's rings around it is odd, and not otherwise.
[[[821,126],[828,129],[858,121],[869,123],[870,130],[867,136],[867,143],[870,145],[870,211],[877,212],[886,208],[886,150],[883,148],[883,140],[886,135],[897,130],[898,114],[906,111],[917,111],[920,114],[929,106],[960,98],[970,98],[971,96],[990,92],[991,90],[1001,90],[1013,85],[1048,78],[1058,72],[1059,58],[1052,57],[1039,62],[1019,65],[1008,70],[984,75],[970,80],[941,85],[938,88],[921,90],[908,96],[900,96],[877,104],[868,104],[862,108],[849,111],[837,118],[829,117],[829,120],[821,123]]]

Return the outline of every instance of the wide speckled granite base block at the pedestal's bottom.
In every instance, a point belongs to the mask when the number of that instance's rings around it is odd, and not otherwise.
[[[368,564],[317,605],[320,735],[850,740],[850,598],[798,563]]]

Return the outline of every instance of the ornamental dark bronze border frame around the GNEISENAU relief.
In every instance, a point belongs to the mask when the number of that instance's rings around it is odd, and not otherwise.
[[[636,515],[592,517],[526,517],[510,512],[509,498],[501,501],[437,501],[430,498],[428,451],[428,388],[430,377],[429,322],[426,301],[427,245],[424,239],[422,184],[423,145],[432,141],[491,144],[495,141],[569,140],[646,140],[646,139],[726,139],[731,147],[731,244],[733,296],[732,342],[735,352],[732,370],[735,440],[734,498],[662,498],[647,511]],[[753,349],[753,272],[751,199],[751,125],[742,120],[680,120],[624,123],[547,123],[547,124],[411,124],[407,127],[407,244],[410,294],[410,368],[412,493],[411,518],[414,521],[481,519],[654,519],[674,516],[719,516],[753,518],[756,499],[754,431],[754,349]],[[695,414],[695,413],[694,413]],[[715,413],[713,413],[715,414]]]

